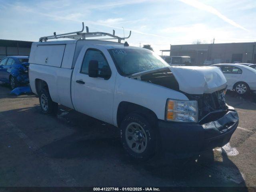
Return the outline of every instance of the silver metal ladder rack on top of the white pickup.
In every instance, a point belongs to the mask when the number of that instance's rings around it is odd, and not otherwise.
[[[113,34],[105,33],[105,32],[89,32],[88,26],[86,26],[86,32],[84,31],[84,22],[82,22],[82,30],[76,31],[76,32],[70,32],[70,33],[64,33],[64,34],[56,34],[56,32],[53,33],[51,36],[45,36],[40,37],[39,41],[47,41],[49,39],[58,39],[58,38],[70,38],[70,39],[86,39],[90,37],[104,37],[104,36],[110,36],[111,38],[97,38],[92,40],[110,40],[110,39],[117,39],[118,43],[121,43],[121,40],[125,40],[131,36],[132,31],[130,31],[130,34],[128,37],[118,37],[115,35],[115,30],[113,30]]]

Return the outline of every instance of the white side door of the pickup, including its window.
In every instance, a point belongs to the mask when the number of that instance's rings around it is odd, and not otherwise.
[[[107,50],[88,48],[84,57],[79,56],[80,60],[78,58],[76,65],[80,63],[80,66],[75,67],[75,76],[72,80],[72,100],[77,111],[112,124],[116,74],[112,72],[108,79],[88,76],[88,66],[91,60],[98,61],[98,68],[110,68],[105,55],[110,58]],[[99,71],[99,75],[100,73]]]

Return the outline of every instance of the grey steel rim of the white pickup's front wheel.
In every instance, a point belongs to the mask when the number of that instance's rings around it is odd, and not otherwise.
[[[148,139],[145,130],[136,122],[128,124],[125,130],[125,139],[128,147],[136,153],[146,150]]]

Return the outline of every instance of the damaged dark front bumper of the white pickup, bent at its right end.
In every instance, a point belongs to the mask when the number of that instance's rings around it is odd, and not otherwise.
[[[238,114],[229,107],[226,114],[205,124],[158,120],[162,149],[173,154],[196,154],[227,144],[238,126]]]

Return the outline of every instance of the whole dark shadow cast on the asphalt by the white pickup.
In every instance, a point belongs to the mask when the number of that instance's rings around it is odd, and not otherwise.
[[[61,121],[68,122],[76,132],[42,148],[52,158],[84,158],[132,166],[174,186],[246,186],[242,173],[223,149],[187,159],[160,155],[138,163],[124,152],[118,128],[75,111],[62,117]]]

